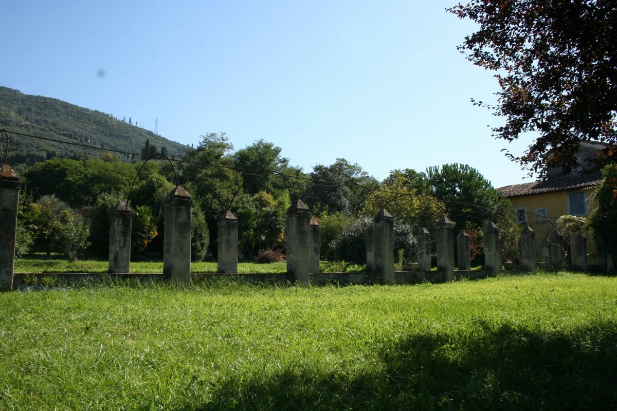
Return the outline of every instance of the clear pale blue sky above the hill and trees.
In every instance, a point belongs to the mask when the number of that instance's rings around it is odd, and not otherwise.
[[[32,1],[0,5],[0,85],[137,121],[197,145],[264,139],[305,172],[336,158],[392,169],[466,163],[523,182],[531,140],[491,137],[471,105],[499,90],[456,46],[457,0]]]

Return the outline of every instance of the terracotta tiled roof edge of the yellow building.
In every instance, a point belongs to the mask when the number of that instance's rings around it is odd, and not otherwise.
[[[602,181],[598,173],[582,174],[578,176],[557,177],[544,181],[526,182],[523,184],[506,185],[499,190],[505,197],[520,197],[565,190],[583,190],[595,187]]]

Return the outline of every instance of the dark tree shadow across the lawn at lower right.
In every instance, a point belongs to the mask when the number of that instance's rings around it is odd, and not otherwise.
[[[381,372],[228,375],[198,387],[212,401],[180,409],[615,409],[617,324],[536,333],[479,320],[468,332],[385,344]]]

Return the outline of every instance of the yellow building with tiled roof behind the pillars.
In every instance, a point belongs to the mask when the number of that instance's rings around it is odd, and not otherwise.
[[[536,232],[536,255],[540,261],[542,240],[555,229],[554,221],[563,215],[585,217],[589,213],[587,199],[600,184],[602,176],[571,174],[546,181],[507,185],[499,190],[514,207],[516,222],[528,224]],[[587,264],[604,266],[603,258],[595,257],[595,244],[587,240]]]

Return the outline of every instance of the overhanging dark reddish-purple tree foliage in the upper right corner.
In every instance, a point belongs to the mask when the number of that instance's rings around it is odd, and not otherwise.
[[[501,91],[489,108],[505,124],[494,136],[537,136],[513,161],[540,175],[567,172],[578,166],[579,142],[595,140],[608,143],[598,162],[615,162],[615,0],[474,0],[448,11],[478,23],[458,49],[495,71]]]

